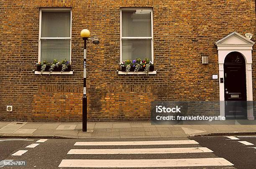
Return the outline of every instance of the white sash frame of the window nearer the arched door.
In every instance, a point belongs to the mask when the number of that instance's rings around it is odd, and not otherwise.
[[[151,10],[151,37],[122,37],[122,11]],[[151,7],[125,7],[120,8],[120,63],[122,62],[122,39],[151,39],[151,61],[154,63],[153,38],[153,8]],[[143,60],[143,58],[141,58]]]

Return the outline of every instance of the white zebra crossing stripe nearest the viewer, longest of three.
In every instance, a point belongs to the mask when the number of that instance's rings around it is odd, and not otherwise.
[[[201,159],[63,159],[59,167],[195,167],[232,166],[223,158]]]

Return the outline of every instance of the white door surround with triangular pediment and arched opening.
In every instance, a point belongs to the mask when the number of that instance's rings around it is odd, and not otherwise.
[[[224,80],[224,60],[230,52],[239,52],[243,55],[246,62],[246,97],[247,101],[253,101],[253,88],[252,88],[252,46],[254,42],[243,37],[237,32],[224,37],[215,43],[218,47],[218,64],[219,64],[219,77]],[[225,99],[224,99],[224,82],[220,83],[220,116],[225,117]],[[247,118],[254,120],[253,109],[247,109]]]

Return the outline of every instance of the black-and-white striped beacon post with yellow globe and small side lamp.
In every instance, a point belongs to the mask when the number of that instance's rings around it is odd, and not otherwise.
[[[83,92],[83,114],[82,114],[82,131],[87,131],[87,96],[86,96],[86,43],[87,40],[90,39],[90,31],[84,29],[80,33],[81,37],[84,40],[84,92]],[[92,43],[99,44],[100,41],[98,37],[95,35]]]

